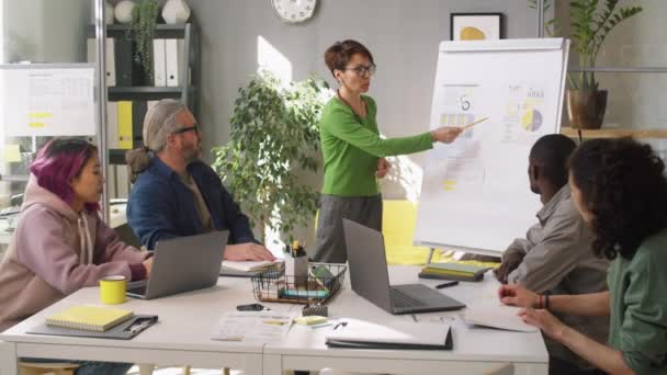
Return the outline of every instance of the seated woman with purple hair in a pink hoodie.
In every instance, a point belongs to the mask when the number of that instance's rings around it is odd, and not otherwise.
[[[0,263],[0,331],[81,287],[98,285],[103,276],[145,279],[152,264],[100,219],[104,178],[93,145],[79,139],[52,140],[30,170],[21,217]],[[125,374],[131,367],[68,362],[80,364],[77,375]]]

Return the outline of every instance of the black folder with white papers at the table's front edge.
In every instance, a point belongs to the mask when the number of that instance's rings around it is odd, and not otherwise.
[[[334,325],[326,343],[334,348],[360,349],[430,349],[453,348],[451,326],[429,322],[391,322],[378,325],[344,319]]]

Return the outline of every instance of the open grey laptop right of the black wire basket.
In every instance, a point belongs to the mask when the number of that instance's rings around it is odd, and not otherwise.
[[[423,284],[389,285],[384,238],[377,230],[343,219],[352,291],[391,314],[464,308],[459,300]]]

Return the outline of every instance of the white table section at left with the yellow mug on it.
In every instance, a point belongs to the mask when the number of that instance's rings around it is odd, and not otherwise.
[[[0,333],[0,340],[16,343],[16,356],[195,365],[206,368],[227,366],[247,370],[249,374],[261,374],[261,343],[211,340],[211,333],[223,311],[252,302],[248,279],[219,279],[218,285],[212,288],[152,300],[128,299],[125,304],[115,305],[135,314],[159,316],[158,323],[132,340],[25,333],[31,327],[44,322],[46,316],[68,306],[100,304],[99,288],[87,287]],[[2,371],[0,374],[4,375]]]

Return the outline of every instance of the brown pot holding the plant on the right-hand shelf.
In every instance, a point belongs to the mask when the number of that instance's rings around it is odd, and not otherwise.
[[[567,90],[569,126],[599,129],[607,111],[607,90]]]

